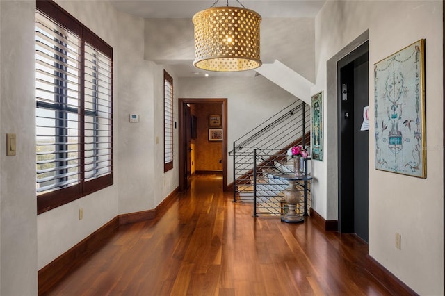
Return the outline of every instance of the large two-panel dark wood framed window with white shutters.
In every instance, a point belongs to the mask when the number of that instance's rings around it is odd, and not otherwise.
[[[53,1],[36,1],[38,213],[113,184],[113,49]]]

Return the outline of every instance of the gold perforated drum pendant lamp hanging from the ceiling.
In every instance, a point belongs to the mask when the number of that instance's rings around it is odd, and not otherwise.
[[[236,72],[261,66],[259,24],[261,16],[242,7],[215,7],[193,16],[195,26],[195,60],[199,69]]]

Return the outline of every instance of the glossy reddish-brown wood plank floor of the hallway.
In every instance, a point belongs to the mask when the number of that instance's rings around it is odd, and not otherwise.
[[[49,295],[389,295],[354,235],[253,218],[218,176],[161,217],[120,229]]]

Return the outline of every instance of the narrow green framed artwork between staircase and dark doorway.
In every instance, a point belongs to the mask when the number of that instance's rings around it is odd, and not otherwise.
[[[323,92],[312,96],[312,159],[323,161]]]

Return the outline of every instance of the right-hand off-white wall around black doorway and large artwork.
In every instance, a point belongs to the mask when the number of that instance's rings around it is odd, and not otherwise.
[[[312,206],[325,219],[337,220],[337,188],[332,188],[337,184],[337,79],[332,73],[336,60],[353,49],[350,44],[366,35],[371,111],[369,254],[416,293],[443,295],[442,1],[327,1],[317,15],[312,93],[325,92],[324,147],[331,148],[325,149],[325,161],[313,162],[317,182]],[[421,38],[426,38],[427,179],[375,170],[373,153],[373,64]],[[396,232],[402,236],[401,250],[395,248]]]

